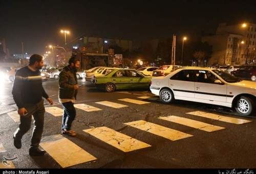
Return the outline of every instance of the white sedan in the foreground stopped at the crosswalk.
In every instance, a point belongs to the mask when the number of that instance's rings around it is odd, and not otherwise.
[[[255,110],[256,82],[241,80],[218,69],[180,68],[152,78],[150,90],[164,103],[174,99],[234,107],[243,116]]]

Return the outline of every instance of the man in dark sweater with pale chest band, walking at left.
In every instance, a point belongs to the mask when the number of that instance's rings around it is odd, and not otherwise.
[[[18,106],[18,114],[20,115],[20,124],[13,136],[16,148],[22,147],[22,137],[30,129],[32,115],[35,120],[29,149],[29,155],[31,156],[45,154],[45,150],[38,148],[44,128],[45,106],[42,97],[46,98],[50,104],[53,104],[52,99],[49,98],[42,87],[39,70],[43,66],[42,56],[33,54],[29,59],[29,66],[16,72],[12,89],[13,99]]]

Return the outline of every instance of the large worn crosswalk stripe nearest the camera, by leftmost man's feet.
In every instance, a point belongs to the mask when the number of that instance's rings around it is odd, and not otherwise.
[[[63,168],[97,160],[97,158],[62,135],[44,137],[40,146]]]

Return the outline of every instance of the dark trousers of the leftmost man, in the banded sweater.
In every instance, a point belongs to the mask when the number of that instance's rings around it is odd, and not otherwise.
[[[20,116],[20,124],[14,133],[14,137],[22,139],[24,134],[28,132],[31,126],[32,115],[34,117],[34,129],[31,139],[31,147],[38,147],[41,141],[42,130],[44,129],[45,106],[44,100],[36,104],[25,104],[28,111],[26,116]]]

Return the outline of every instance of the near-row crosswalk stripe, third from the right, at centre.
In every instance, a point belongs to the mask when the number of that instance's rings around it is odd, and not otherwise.
[[[188,138],[188,137],[193,136],[193,135],[190,135],[190,134],[180,132],[180,131],[175,130],[175,129],[171,129],[171,128],[164,127],[164,126],[161,126],[161,125],[158,125],[158,124],[150,123],[150,122],[147,122],[147,121],[144,121],[144,120],[133,121],[133,122],[124,123],[124,124],[129,125],[131,127],[138,128],[140,130],[144,130],[148,133],[158,135],[160,137],[164,137],[164,138],[172,140],[172,141],[176,141],[176,140],[180,140],[180,139],[183,139],[183,138]]]

